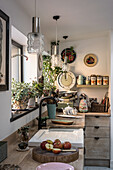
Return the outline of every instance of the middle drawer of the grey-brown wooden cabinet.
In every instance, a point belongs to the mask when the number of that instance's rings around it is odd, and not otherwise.
[[[85,128],[85,137],[109,137],[109,127],[93,126]]]

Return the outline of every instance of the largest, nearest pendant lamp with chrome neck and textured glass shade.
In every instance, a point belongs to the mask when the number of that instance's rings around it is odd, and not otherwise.
[[[28,53],[41,54],[44,51],[44,36],[40,33],[40,18],[36,16],[35,0],[35,17],[32,17],[32,32],[27,35]]]

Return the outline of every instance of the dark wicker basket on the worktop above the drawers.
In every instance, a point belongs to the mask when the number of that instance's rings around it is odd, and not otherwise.
[[[105,112],[105,105],[92,103],[91,112]]]

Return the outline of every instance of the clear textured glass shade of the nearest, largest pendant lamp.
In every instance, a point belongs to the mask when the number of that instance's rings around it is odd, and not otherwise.
[[[40,33],[31,32],[27,35],[28,53],[41,54],[44,51],[44,36]]]

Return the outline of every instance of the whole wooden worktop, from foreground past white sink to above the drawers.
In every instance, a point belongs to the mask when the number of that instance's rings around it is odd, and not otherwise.
[[[61,113],[58,113],[61,114]],[[83,128],[85,126],[85,116],[110,116],[110,113],[78,113],[78,116],[81,115],[80,119],[75,119],[75,124],[73,125],[66,125],[65,128]],[[59,117],[58,117],[59,118]],[[64,118],[63,118],[64,119]],[[72,119],[71,119],[72,120]],[[54,124],[54,127],[56,125]],[[49,127],[51,127],[49,125]],[[52,125],[53,127],[53,125]],[[57,127],[64,128],[64,125],[57,125]],[[37,126],[34,127],[35,131]],[[8,158],[5,159],[1,164],[17,164],[21,167],[22,170],[35,170],[40,163],[34,161],[32,159],[32,148],[26,152],[19,152],[16,151],[18,147],[18,140],[13,140],[13,142],[8,145]],[[83,149],[79,149],[79,159],[77,161],[69,163],[70,165],[76,167],[76,170],[83,170],[84,165],[84,153]]]

